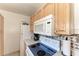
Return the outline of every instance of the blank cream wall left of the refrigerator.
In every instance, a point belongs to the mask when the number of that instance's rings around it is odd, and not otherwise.
[[[19,50],[21,21],[29,17],[21,14],[0,10],[4,16],[4,54]]]

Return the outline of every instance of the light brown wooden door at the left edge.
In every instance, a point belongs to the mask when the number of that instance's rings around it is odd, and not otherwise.
[[[4,19],[0,15],[0,55],[4,54]]]

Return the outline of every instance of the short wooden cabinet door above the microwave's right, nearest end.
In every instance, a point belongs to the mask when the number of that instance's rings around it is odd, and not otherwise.
[[[54,3],[49,3],[44,6],[45,16],[52,14],[54,15]]]

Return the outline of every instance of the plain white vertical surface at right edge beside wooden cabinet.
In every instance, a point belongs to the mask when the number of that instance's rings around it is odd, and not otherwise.
[[[74,3],[74,29],[79,34],[79,3]]]

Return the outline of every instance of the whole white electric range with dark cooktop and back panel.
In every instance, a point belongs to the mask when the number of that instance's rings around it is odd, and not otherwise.
[[[61,56],[60,40],[40,36],[38,43],[28,45],[27,56]]]

